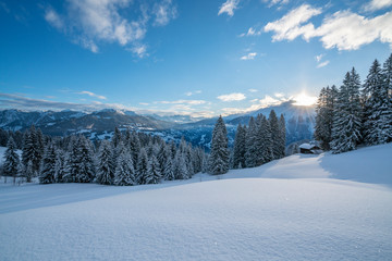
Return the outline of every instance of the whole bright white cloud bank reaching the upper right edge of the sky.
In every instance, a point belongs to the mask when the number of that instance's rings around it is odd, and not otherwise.
[[[303,4],[281,20],[268,23],[265,30],[274,33],[272,41],[293,40],[298,36],[305,40],[320,37],[326,49],[357,50],[375,40],[390,44],[392,48],[392,12],[367,18],[351,11],[339,11],[327,16],[318,28],[311,23],[302,25],[320,13],[320,9]]]

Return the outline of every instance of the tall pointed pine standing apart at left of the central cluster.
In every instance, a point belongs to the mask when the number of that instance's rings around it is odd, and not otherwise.
[[[212,130],[210,171],[215,175],[229,171],[228,130],[222,116],[219,116]]]

